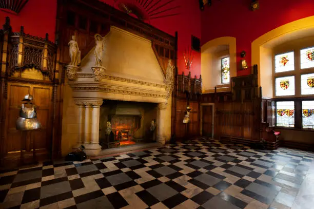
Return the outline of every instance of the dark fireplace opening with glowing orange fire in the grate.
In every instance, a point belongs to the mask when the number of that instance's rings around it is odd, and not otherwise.
[[[102,148],[153,142],[155,131],[150,131],[150,126],[155,118],[156,104],[154,103],[104,101],[100,114]]]

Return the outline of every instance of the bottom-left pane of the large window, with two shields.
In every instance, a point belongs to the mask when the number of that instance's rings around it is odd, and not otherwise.
[[[276,125],[295,127],[295,102],[277,102]]]

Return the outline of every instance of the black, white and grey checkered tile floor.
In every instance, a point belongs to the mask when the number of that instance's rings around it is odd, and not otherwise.
[[[0,174],[0,208],[290,208],[314,154],[200,139]]]

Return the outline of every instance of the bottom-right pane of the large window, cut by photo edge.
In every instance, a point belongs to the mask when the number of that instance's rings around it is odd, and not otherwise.
[[[314,101],[302,101],[302,127],[314,129]]]

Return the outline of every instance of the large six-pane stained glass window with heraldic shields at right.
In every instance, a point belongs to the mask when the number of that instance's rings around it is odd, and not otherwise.
[[[274,55],[276,126],[314,129],[314,47]]]

